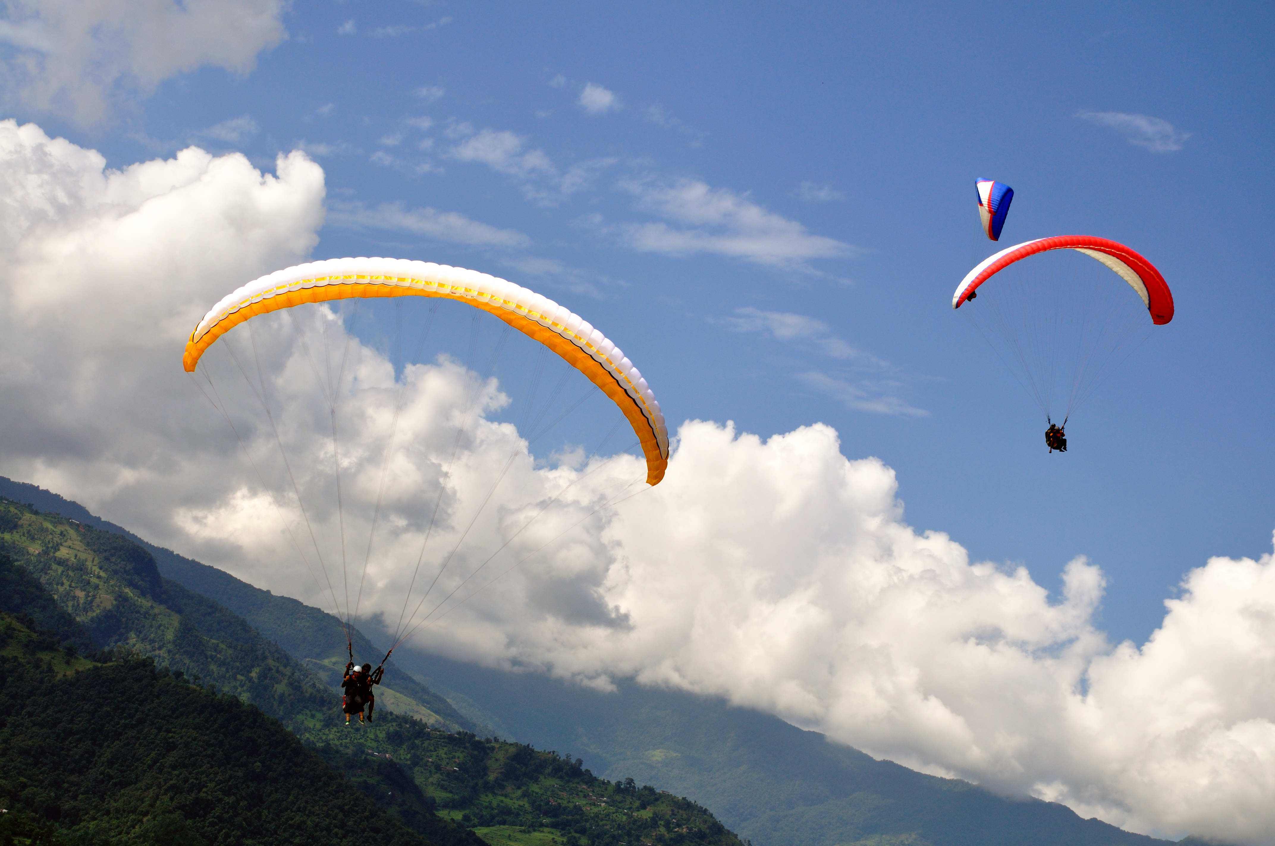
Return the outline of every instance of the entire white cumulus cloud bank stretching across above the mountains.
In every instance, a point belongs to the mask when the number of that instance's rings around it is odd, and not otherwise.
[[[970,561],[947,534],[909,526],[894,471],[843,456],[826,426],[762,440],[685,423],[666,482],[620,502],[636,457],[537,461],[529,427],[497,420],[518,391],[446,358],[395,368],[321,308],[214,347],[236,436],[181,372],[181,345],[209,303],[309,256],[324,219],[314,162],[292,154],[263,175],[193,148],[106,171],[97,153],[6,121],[0,203],[0,473],[330,606],[340,587],[319,584],[310,549],[334,548],[339,515],[307,511],[311,545],[274,443],[298,456],[302,501],[324,501],[338,456],[325,400],[303,390],[323,369],[292,331],[309,327],[348,361],[333,382],[343,527],[363,539],[381,525],[366,613],[393,624],[411,575],[395,562],[416,561],[421,503],[442,492],[422,573],[459,549],[435,594],[456,590],[456,610],[428,649],[723,696],[1141,831],[1271,842],[1272,556],[1209,561],[1145,643],[1112,645],[1093,623],[1096,567],[1071,562],[1051,598],[1025,568]],[[278,436],[252,391],[231,387],[229,350],[252,357],[254,378],[261,362],[259,389],[287,420]]]

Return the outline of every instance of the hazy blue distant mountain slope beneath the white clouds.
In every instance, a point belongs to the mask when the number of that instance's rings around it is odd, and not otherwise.
[[[478,702],[511,736],[570,750],[598,773],[682,794],[756,846],[1151,846],[1070,808],[922,775],[720,701],[621,683],[599,693],[533,673],[404,654],[439,689]]]

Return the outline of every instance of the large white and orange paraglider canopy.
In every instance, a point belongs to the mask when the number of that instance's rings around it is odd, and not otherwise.
[[[544,344],[620,406],[646,456],[646,483],[668,465],[664,415],[638,368],[602,333],[552,299],[477,270],[405,259],[328,259],[277,270],[233,290],[204,315],[181,363],[194,372],[213,343],[250,317],[306,302],[363,297],[441,297],[491,312]]]

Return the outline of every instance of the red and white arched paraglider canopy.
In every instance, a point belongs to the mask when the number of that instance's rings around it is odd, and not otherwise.
[[[1037,238],[988,256],[970,270],[956,287],[956,293],[952,294],[952,308],[960,308],[961,303],[974,293],[974,289],[1015,261],[1049,250],[1076,250],[1103,262],[1142,298],[1142,305],[1151,313],[1154,324],[1163,325],[1173,320],[1173,293],[1169,290],[1168,283],[1164,282],[1164,276],[1150,261],[1123,243],[1086,234]]]

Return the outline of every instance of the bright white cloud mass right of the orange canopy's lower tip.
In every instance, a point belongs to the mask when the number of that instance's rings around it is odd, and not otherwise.
[[[1146,643],[1112,646],[1098,568],[1072,561],[1051,600],[908,526],[895,494],[826,427],[683,426],[667,489],[609,535],[625,566],[603,595],[631,628],[528,659],[718,694],[1140,831],[1271,842],[1271,556],[1210,561]]]

